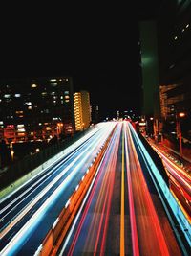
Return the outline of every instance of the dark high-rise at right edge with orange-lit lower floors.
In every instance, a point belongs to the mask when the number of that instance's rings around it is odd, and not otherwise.
[[[163,1],[158,17],[159,85],[164,128],[176,133],[179,113],[191,138],[191,1]]]

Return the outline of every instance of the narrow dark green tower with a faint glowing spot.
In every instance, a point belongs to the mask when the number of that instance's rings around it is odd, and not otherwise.
[[[155,20],[139,22],[142,69],[142,115],[159,118],[159,61]]]

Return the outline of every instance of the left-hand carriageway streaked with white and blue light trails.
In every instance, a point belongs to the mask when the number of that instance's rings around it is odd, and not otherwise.
[[[99,125],[68,156],[1,202],[0,255],[33,255],[115,123]]]

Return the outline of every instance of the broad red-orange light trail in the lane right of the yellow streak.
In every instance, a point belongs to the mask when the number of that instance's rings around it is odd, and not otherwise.
[[[144,251],[143,253],[148,253],[148,250],[144,247],[144,245],[142,244],[141,238],[145,235],[145,231],[143,231],[143,227],[144,224],[146,226],[148,226],[147,228],[147,237],[148,239],[150,238],[149,241],[153,241],[153,244],[148,244],[147,246],[150,247],[151,251],[155,251],[156,254],[159,253],[159,255],[169,255],[169,251],[168,251],[168,247],[167,244],[165,243],[165,239],[159,224],[159,218],[158,215],[156,213],[155,207],[153,205],[152,202],[152,198],[150,196],[146,181],[144,179],[142,170],[141,170],[141,166],[139,164],[139,160],[138,160],[138,154],[137,151],[135,149],[135,145],[133,142],[133,138],[131,135],[131,131],[129,126],[131,126],[130,124],[128,124],[127,126],[127,133],[128,133],[128,138],[129,138],[129,149],[131,149],[131,154],[132,156],[134,156],[134,160],[133,158],[131,159],[132,161],[135,161],[136,163],[136,169],[131,170],[131,173],[135,176],[135,181],[137,182],[137,197],[139,199],[139,202],[137,200],[138,203],[138,211],[140,211],[141,216],[145,216],[147,217],[146,219],[143,220],[138,220],[138,244],[141,246],[141,251]],[[130,156],[131,156],[130,154]],[[136,184],[136,183],[135,183]],[[135,186],[134,186],[135,187]],[[134,190],[135,191],[135,190]],[[134,197],[134,200],[136,200],[136,198]],[[141,202],[143,204],[141,204]],[[140,214],[139,213],[139,214]],[[146,227],[145,226],[145,227]],[[152,228],[153,227],[153,228]],[[141,235],[140,235],[141,234]],[[154,247],[155,244],[155,247]]]

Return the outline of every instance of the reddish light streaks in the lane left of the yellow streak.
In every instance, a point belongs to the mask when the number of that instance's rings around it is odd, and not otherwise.
[[[97,215],[94,214],[93,218],[91,218],[91,222],[88,226],[88,230],[86,230],[86,243],[84,244],[83,251],[90,251],[94,247],[94,255],[104,255],[105,251],[105,242],[106,242],[106,235],[108,229],[108,221],[112,203],[112,194],[113,194],[113,187],[114,187],[114,180],[115,180],[115,166],[117,161],[117,151],[118,151],[118,143],[119,139],[116,141],[116,135],[112,138],[109,146],[107,154],[104,155],[104,159],[102,161],[99,174],[97,175],[96,182],[94,184],[93,190],[89,196],[87,204],[83,210],[83,214],[80,218],[79,224],[77,229],[74,233],[73,241],[70,245],[68,256],[74,254],[74,249],[77,245],[79,237],[82,235],[82,229],[84,227],[85,221],[87,220],[88,213],[90,211],[90,207],[93,207],[93,200],[96,197],[96,205],[95,205],[95,213],[101,212],[102,214]],[[111,157],[112,151],[112,159]],[[105,169],[105,170],[104,170]],[[104,173],[103,173],[104,172]],[[100,177],[101,184],[100,184]],[[98,187],[100,186],[100,188]],[[98,244],[100,244],[100,251],[98,252]],[[66,247],[66,245],[65,245]],[[62,250],[62,253],[64,251]]]

